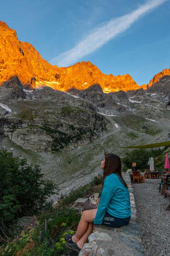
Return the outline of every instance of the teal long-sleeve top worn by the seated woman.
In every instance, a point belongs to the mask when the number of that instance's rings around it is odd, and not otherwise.
[[[124,219],[131,216],[129,191],[115,173],[104,179],[94,224],[102,224],[106,210],[116,218]]]

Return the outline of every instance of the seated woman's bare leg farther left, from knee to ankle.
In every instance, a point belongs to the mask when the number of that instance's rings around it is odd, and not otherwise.
[[[96,217],[96,212],[97,212],[97,208],[83,211],[83,213],[81,215],[81,219],[79,221],[77,231],[76,231],[75,235],[72,236],[72,241],[74,243],[77,243],[79,241],[79,239],[86,233],[88,228],[91,229],[91,225],[89,227],[89,222],[91,222],[91,223],[94,222],[94,219]],[[88,233],[89,232],[90,232],[90,230],[88,231]]]

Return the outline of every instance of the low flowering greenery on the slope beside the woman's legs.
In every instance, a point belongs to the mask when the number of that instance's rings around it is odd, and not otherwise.
[[[89,185],[62,198],[55,207],[49,211],[43,211],[27,226],[23,224],[22,232],[14,229],[10,238],[0,244],[0,255],[77,256],[76,252],[70,253],[64,239],[66,233],[71,235],[75,233],[80,219],[80,213],[72,208],[72,203],[78,197],[89,197],[91,194],[101,193],[101,189],[101,177],[95,177]]]

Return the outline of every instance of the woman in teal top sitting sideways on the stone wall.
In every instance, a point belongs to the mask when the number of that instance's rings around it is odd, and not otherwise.
[[[98,208],[83,211],[75,235],[65,235],[66,246],[77,252],[91,234],[93,223],[117,228],[127,225],[130,220],[130,196],[121,173],[121,159],[117,155],[106,154],[101,168],[103,188]]]

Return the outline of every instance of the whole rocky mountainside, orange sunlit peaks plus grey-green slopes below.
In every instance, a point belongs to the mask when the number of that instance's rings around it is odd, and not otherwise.
[[[170,140],[170,69],[139,86],[90,61],[52,66],[0,22],[0,148],[39,164],[56,201],[101,173],[105,152]]]

